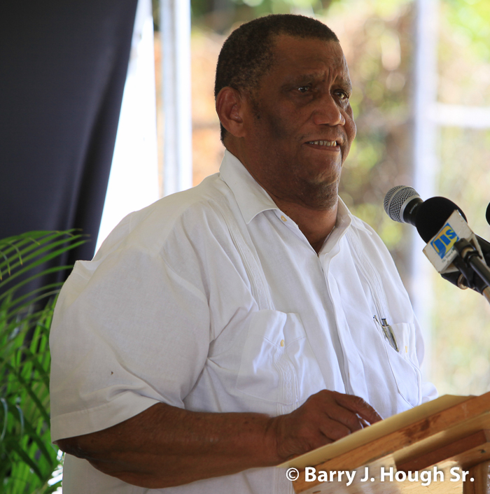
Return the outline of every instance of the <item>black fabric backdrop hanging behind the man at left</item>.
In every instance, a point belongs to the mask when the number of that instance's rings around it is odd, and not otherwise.
[[[137,0],[0,1],[0,239],[81,228],[94,255]]]

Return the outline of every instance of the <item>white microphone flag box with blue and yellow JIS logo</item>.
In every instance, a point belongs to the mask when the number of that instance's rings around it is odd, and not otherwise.
[[[468,240],[477,249],[480,257],[483,257],[475,234],[471,231],[468,223],[465,222],[459,211],[454,210],[444,223],[444,226],[423,248],[423,253],[433,264],[433,267],[437,269],[437,272],[443,274],[457,271],[456,267],[451,264],[458,255],[454,244],[459,239]]]

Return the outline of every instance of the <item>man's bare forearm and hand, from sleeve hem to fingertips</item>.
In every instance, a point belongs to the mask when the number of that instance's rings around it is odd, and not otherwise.
[[[111,428],[56,443],[128,484],[165,488],[272,467],[379,420],[361,398],[323,390],[292,413],[274,418],[159,403]]]

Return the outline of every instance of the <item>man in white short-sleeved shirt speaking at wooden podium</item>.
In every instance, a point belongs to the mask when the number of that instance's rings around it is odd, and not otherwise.
[[[356,126],[335,34],[244,24],[215,89],[220,174],[125,218],[59,297],[65,494],[293,492],[274,465],[434,397],[393,261],[337,196]]]

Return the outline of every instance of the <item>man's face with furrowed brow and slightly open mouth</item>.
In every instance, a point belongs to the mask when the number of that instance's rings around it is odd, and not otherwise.
[[[248,100],[244,163],[276,198],[312,209],[337,204],[356,136],[349,69],[335,41],[277,36],[272,69]]]

